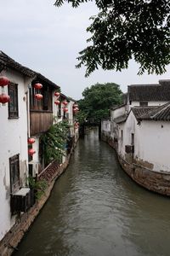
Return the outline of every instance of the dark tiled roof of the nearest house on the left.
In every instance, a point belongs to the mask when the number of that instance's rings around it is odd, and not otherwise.
[[[20,63],[14,61],[8,55],[4,54],[3,51],[0,51],[0,68],[3,69],[5,67],[10,67],[31,78],[35,77],[36,75],[36,73],[33,70],[31,70],[28,67],[20,65]]]

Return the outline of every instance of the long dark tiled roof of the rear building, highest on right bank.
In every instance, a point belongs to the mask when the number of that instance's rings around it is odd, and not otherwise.
[[[129,101],[170,101],[170,80],[160,80],[159,84],[133,84],[127,90]]]

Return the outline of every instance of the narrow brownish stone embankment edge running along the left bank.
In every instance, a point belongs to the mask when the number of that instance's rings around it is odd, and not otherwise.
[[[72,153],[73,150],[71,150]],[[41,211],[42,207],[48,201],[48,197],[51,194],[51,191],[54,187],[56,179],[65,172],[66,167],[69,164],[71,154],[69,154],[65,160],[65,163],[62,166],[59,166],[58,172],[55,174],[52,182],[48,184],[44,195],[34,204],[33,207],[29,209],[28,212],[25,212],[20,215],[18,221],[14,224],[11,230],[8,231],[6,236],[3,237],[3,240],[0,241],[0,255],[1,256],[10,256],[14,251],[18,250],[17,246],[22,240],[23,236],[26,234],[26,231],[29,230],[31,224],[37,218],[37,215]]]

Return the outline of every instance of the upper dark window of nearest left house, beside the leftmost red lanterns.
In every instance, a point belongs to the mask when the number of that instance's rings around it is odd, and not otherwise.
[[[10,83],[8,85],[8,95],[10,96],[10,102],[8,102],[8,118],[18,118],[18,84]]]

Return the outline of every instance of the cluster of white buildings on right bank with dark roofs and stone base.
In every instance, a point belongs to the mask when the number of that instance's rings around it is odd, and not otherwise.
[[[111,109],[112,145],[123,169],[163,195],[170,195],[169,102],[170,80],[161,80],[128,86],[127,104]]]

